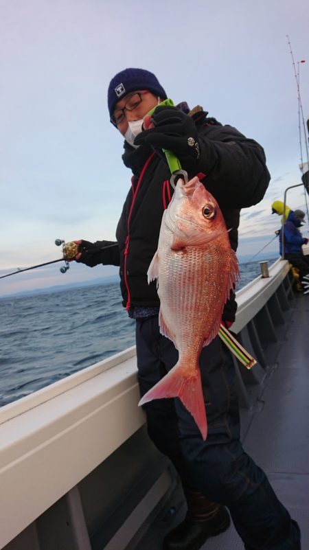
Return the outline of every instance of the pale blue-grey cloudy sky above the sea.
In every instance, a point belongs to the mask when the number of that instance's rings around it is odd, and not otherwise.
[[[126,67],[263,146],[271,183],[242,211],[238,255],[276,253],[271,204],[307,161],[308,16],[308,0],[0,0],[0,275],[62,257],[56,238],[115,239],[131,174],[106,93]],[[308,220],[303,187],[286,202]],[[1,279],[0,296],[117,272],[61,265]]]

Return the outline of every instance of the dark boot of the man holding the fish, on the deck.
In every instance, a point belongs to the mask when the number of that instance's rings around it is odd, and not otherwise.
[[[199,491],[184,489],[187,514],[163,540],[163,550],[198,550],[209,537],[226,531],[231,523],[225,507],[205,499]]]

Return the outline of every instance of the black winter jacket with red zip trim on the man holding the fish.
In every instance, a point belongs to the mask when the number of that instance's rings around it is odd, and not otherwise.
[[[198,128],[201,155],[189,177],[200,174],[207,190],[218,200],[227,229],[231,229],[231,247],[236,251],[240,209],[258,203],[270,180],[264,150],[236,128],[207,118],[203,111],[193,118]],[[120,266],[124,307],[159,306],[156,283],[148,285],[146,273],[157,250],[164,207],[173,192],[170,172],[161,155],[148,146],[134,149],[125,142],[122,159],[132,170],[133,178],[117,225],[119,255],[113,248],[106,249],[100,262]],[[185,165],[182,168],[186,170]],[[102,246],[104,243],[102,241]],[[222,319],[233,322],[236,308],[231,295]]]

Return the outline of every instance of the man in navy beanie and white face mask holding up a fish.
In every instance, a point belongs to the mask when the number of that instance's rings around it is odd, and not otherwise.
[[[172,197],[162,149],[174,152],[189,178],[198,175],[220,205],[231,247],[238,244],[240,209],[258,203],[270,179],[262,147],[232,126],[222,126],[197,106],[159,106],[152,128],[144,117],[167,95],[146,69],[116,74],[108,87],[111,123],[124,137],[122,160],[133,172],[116,241],[76,241],[76,261],[119,266],[123,305],[136,320],[137,369],[141,396],[176,364],[178,352],[159,331],[159,297],[147,271],[157,250],[161,218]],[[203,284],[203,281],[201,281]],[[231,293],[222,323],[236,314]],[[279,502],[268,479],[240,442],[238,397],[231,354],[217,336],[200,358],[208,437],[203,441],[179,399],[144,405],[148,434],[179,474],[187,514],[163,540],[164,550],[197,550],[229,527],[229,509],[247,550],[300,550],[297,523]]]

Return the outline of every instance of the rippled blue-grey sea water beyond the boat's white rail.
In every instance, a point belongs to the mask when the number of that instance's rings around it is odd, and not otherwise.
[[[240,275],[238,288],[260,264],[240,264]],[[121,302],[118,282],[1,299],[0,406],[134,345]]]

